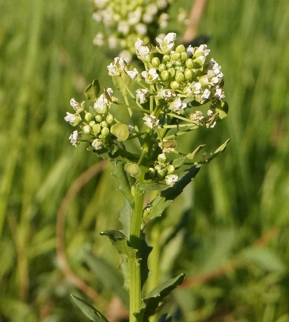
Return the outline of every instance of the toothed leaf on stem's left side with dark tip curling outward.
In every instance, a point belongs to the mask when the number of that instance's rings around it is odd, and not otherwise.
[[[139,260],[136,258],[137,250],[129,246],[127,237],[119,230],[106,230],[104,232],[100,232],[100,234],[101,236],[107,236],[112,245],[117,249],[121,257],[120,269],[124,277],[123,286],[128,290],[130,262],[136,261],[136,265],[139,265]]]

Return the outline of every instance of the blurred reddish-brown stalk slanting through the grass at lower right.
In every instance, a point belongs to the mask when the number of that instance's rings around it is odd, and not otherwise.
[[[262,248],[266,246],[272,239],[278,236],[280,229],[278,227],[272,227],[264,235],[262,235],[254,244],[254,247]],[[212,279],[220,277],[224,274],[232,272],[240,265],[238,260],[228,260],[225,264],[217,267],[215,270],[211,270],[208,273],[200,274],[187,279],[180,286],[181,288],[188,289],[196,285],[204,284]]]

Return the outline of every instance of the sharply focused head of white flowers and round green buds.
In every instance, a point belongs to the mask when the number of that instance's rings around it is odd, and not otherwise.
[[[213,128],[226,114],[224,78],[221,66],[208,58],[205,44],[185,48],[177,45],[175,33],[156,38],[156,43],[153,47],[140,38],[135,43],[144,71],[127,64],[123,57],[116,57],[107,67],[126,104],[117,101],[111,88],[104,89],[89,111],[84,102],[72,99],[75,114],[67,113],[65,120],[73,126],[82,122],[82,132],[74,131],[69,137],[74,146],[85,134],[90,149],[109,159],[121,157],[124,170],[137,181],[170,186],[178,181],[184,160],[187,165],[205,162],[191,163],[196,151],[182,154],[177,150],[177,137],[200,126]],[[206,103],[210,104],[203,108]],[[112,104],[127,109],[131,120],[134,110],[141,111],[143,125],[120,123],[110,113]],[[130,139],[139,141],[138,155],[120,143]]]

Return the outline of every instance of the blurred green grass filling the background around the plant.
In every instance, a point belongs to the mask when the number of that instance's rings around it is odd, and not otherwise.
[[[92,44],[88,0],[3,1],[0,12],[0,321],[83,321],[69,299],[78,291],[58,269],[55,223],[66,191],[97,160],[70,145],[64,116],[94,78],[109,86],[109,59]],[[174,293],[188,322],[289,321],[288,30],[285,0],[208,1],[201,19],[198,32],[211,36],[230,111],[214,130],[200,129],[181,144],[191,151],[207,143],[213,151],[231,141],[162,222],[164,240],[183,201],[193,198],[163,275],[171,269],[190,278],[239,262],[225,276]],[[123,197],[111,194],[117,183],[110,173],[82,189],[66,218],[69,263],[106,299],[110,291],[83,264],[82,252],[92,248],[118,264],[98,235],[119,227]],[[249,247],[274,226],[279,234],[264,250]]]

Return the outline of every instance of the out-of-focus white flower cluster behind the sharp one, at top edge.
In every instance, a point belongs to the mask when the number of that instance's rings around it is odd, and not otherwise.
[[[93,18],[104,25],[105,32],[98,32],[93,43],[97,46],[106,45],[110,49],[122,48],[119,56],[130,62],[135,53],[137,37],[142,37],[145,42],[153,42],[150,35],[162,33],[162,29],[167,26],[170,19],[167,11],[172,2],[173,0],[94,0]]]

